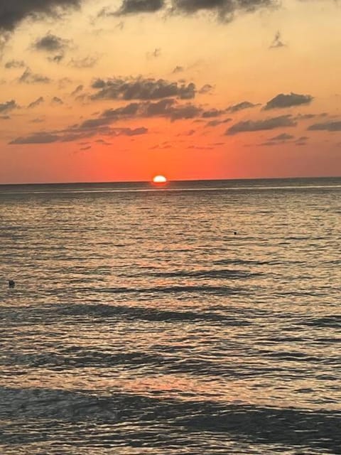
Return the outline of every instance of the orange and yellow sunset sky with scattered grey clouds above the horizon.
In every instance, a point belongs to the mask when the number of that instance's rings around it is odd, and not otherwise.
[[[341,176],[341,4],[0,0],[0,183]]]

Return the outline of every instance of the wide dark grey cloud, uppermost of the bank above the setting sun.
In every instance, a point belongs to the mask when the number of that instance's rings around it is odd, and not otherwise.
[[[195,84],[190,82],[169,82],[163,79],[144,77],[96,79],[92,88],[97,93],[92,100],[158,100],[161,98],[178,97],[190,100],[195,97]]]

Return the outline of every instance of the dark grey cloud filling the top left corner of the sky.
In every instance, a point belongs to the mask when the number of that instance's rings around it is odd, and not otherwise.
[[[0,34],[13,31],[26,18],[41,15],[58,16],[69,8],[80,5],[81,0],[0,0]]]

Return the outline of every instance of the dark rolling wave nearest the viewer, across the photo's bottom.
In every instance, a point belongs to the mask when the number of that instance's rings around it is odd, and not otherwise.
[[[80,451],[91,444],[96,453],[104,447],[131,453],[126,450],[152,446],[158,448],[153,453],[169,453],[173,447],[176,454],[220,454],[227,453],[227,441],[238,440],[252,447],[243,453],[256,453],[257,448],[257,453],[266,448],[274,453],[278,444],[282,452],[340,454],[337,411],[164,400],[120,392],[96,396],[47,388],[0,387],[0,400],[0,444],[13,446],[10,453],[16,453],[16,444],[33,443],[36,448],[54,446],[53,453],[61,453],[58,449],[67,441],[67,447]]]

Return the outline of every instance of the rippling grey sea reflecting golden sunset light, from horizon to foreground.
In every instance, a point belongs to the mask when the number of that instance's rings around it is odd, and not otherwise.
[[[0,210],[1,455],[341,454],[341,178]]]

